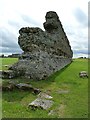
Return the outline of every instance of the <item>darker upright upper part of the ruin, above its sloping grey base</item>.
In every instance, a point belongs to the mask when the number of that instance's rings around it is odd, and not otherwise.
[[[68,38],[56,12],[47,12],[46,22],[43,24],[45,32],[40,28],[21,28],[18,43],[24,52],[37,49],[53,52],[54,54],[72,57],[72,50]]]

